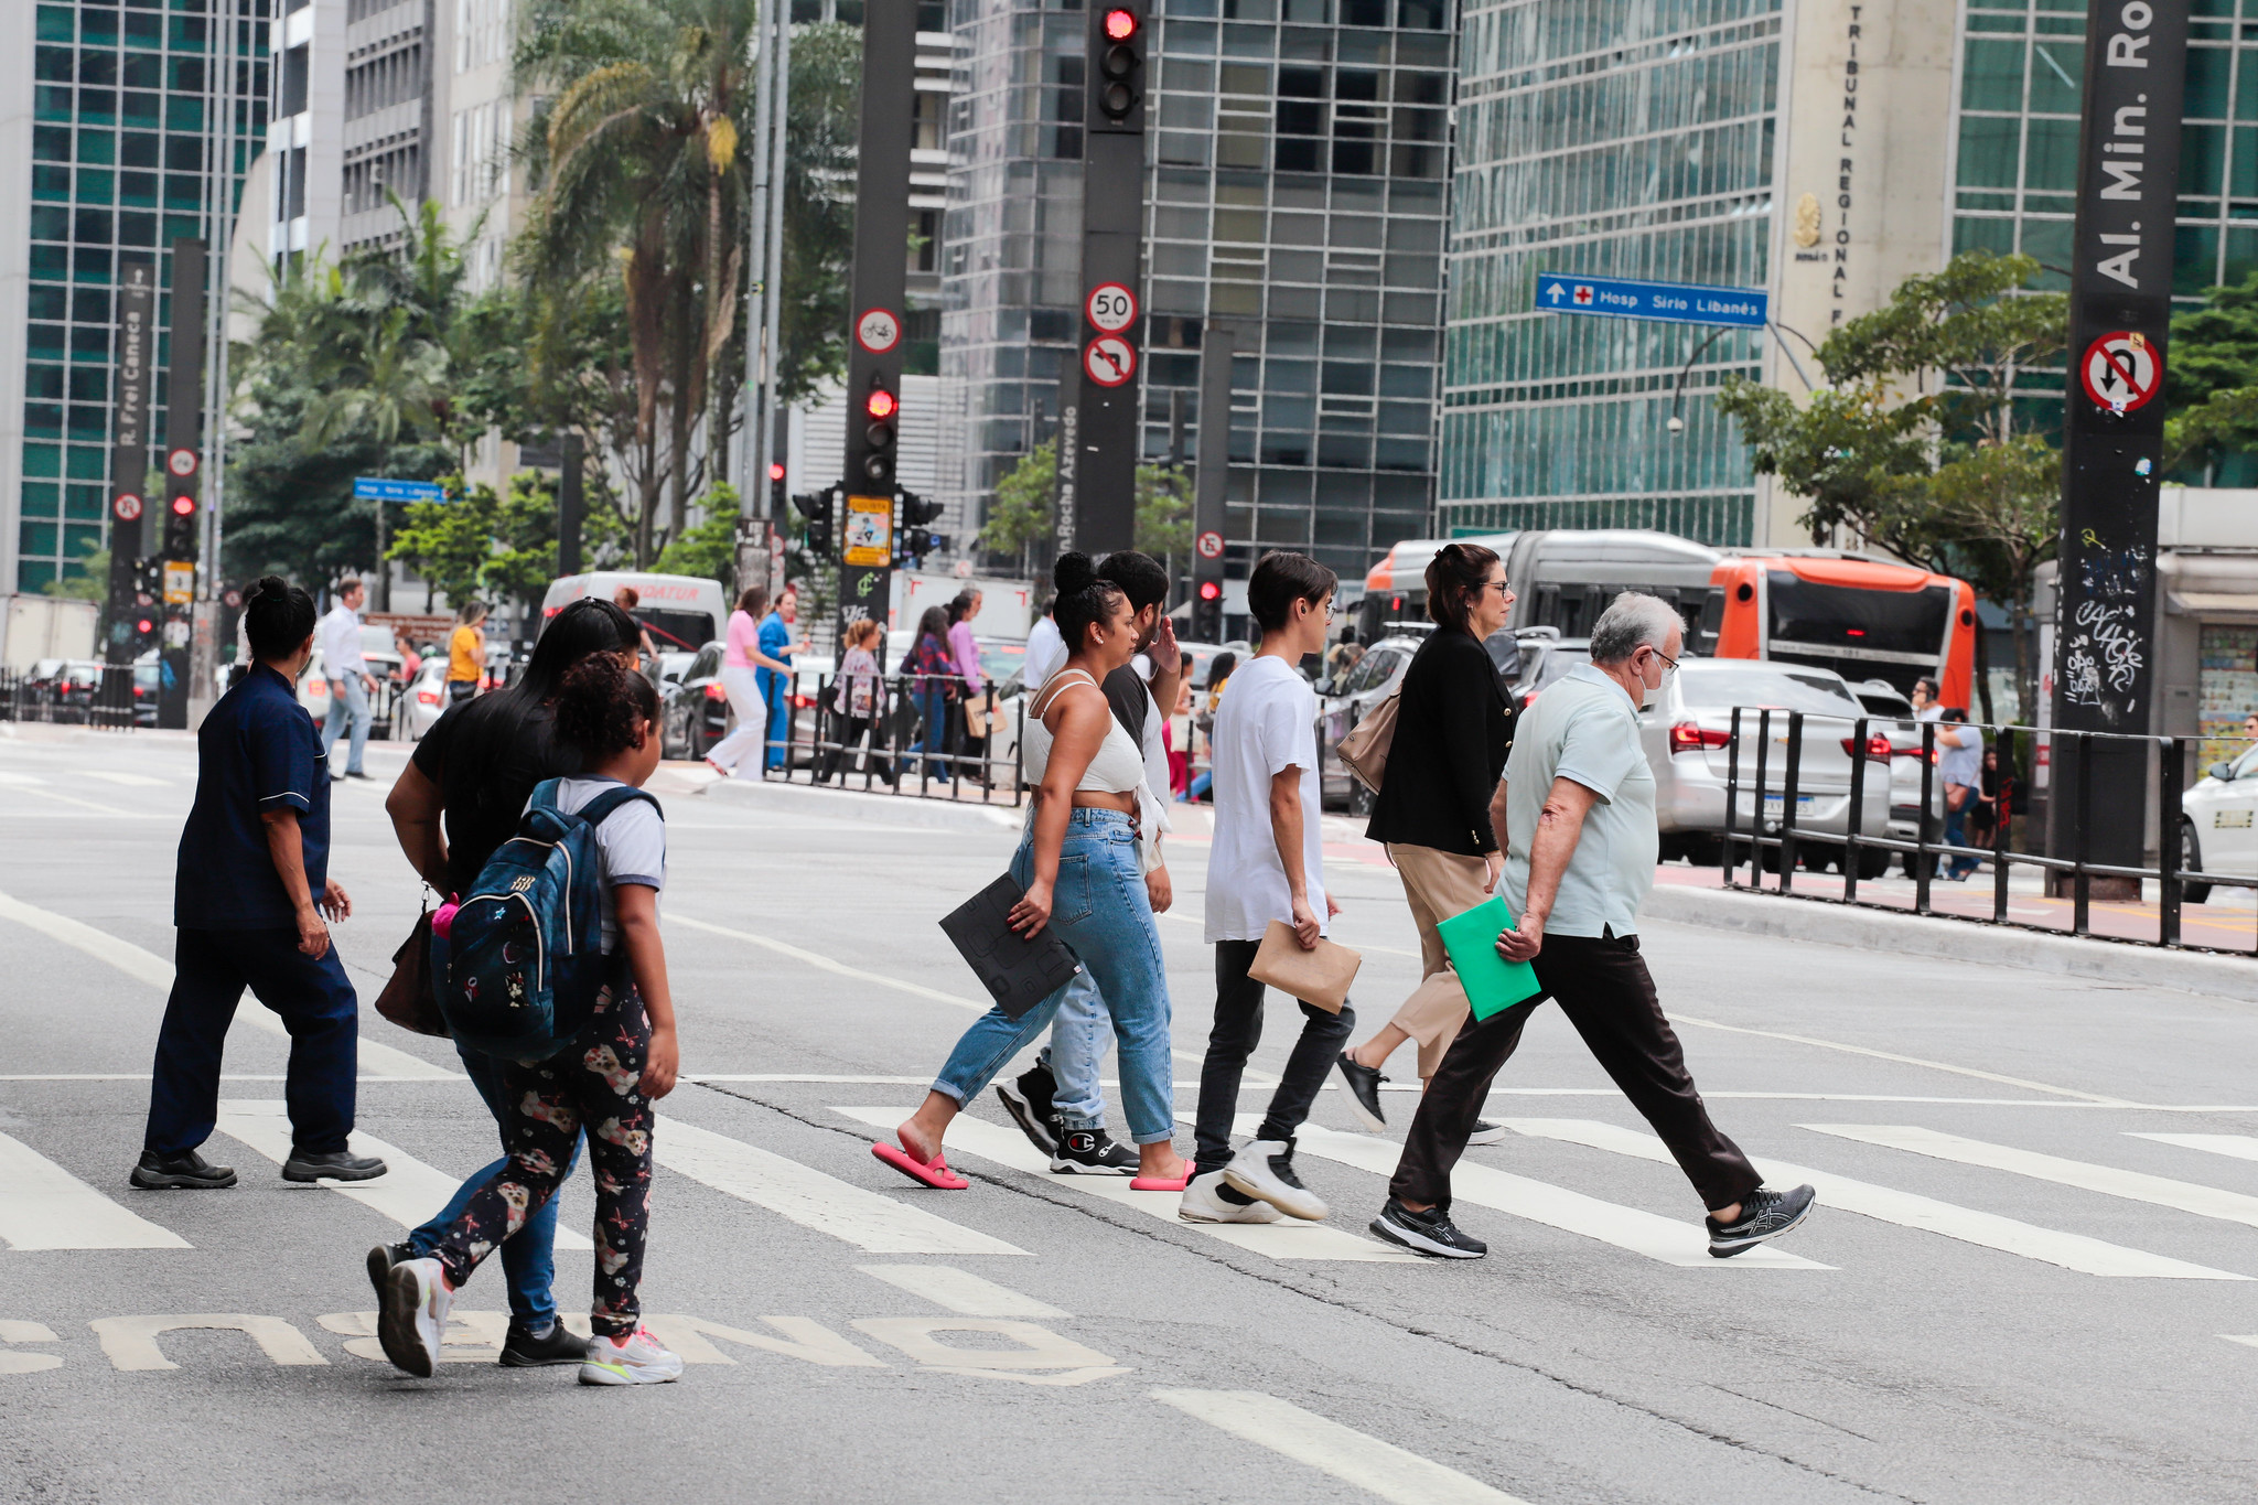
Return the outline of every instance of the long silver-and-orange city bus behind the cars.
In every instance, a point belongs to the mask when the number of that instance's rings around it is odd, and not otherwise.
[[[1364,641],[1391,623],[1425,621],[1425,569],[1450,542],[1409,539],[1373,566],[1357,623]],[[1976,591],[1953,575],[1840,548],[1712,548],[1644,528],[1529,528],[1459,542],[1506,560],[1517,598],[1508,627],[1581,639],[1617,591],[1646,591],[1678,607],[1694,654],[1811,663],[1899,693],[1935,675],[1946,706],[1971,704]]]

